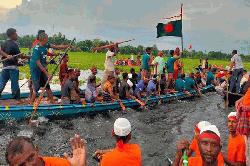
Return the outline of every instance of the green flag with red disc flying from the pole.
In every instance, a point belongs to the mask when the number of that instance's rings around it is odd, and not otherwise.
[[[159,23],[157,25],[157,38],[162,36],[182,37],[182,21],[170,21],[167,24]]]

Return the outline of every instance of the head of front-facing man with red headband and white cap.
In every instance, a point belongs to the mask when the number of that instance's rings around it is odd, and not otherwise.
[[[204,165],[216,166],[221,152],[220,132],[215,125],[202,128],[198,137],[198,146]]]

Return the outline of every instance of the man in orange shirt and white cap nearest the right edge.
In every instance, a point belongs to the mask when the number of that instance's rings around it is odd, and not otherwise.
[[[244,166],[246,165],[246,145],[242,135],[236,133],[237,129],[236,112],[231,112],[228,115],[228,149],[227,156],[224,155],[224,160],[228,165]]]

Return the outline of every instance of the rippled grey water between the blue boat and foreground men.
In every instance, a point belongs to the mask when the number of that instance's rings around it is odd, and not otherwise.
[[[142,149],[143,165],[163,166],[166,156],[173,158],[176,141],[192,138],[193,126],[200,120],[215,124],[222,135],[223,150],[227,140],[226,115],[222,99],[215,93],[202,98],[175,101],[157,106],[147,111],[128,110],[97,114],[68,120],[53,120],[38,128],[29,129],[25,123],[2,124],[0,130],[0,165],[5,164],[4,152],[7,142],[18,134],[33,135],[42,155],[61,156],[69,151],[68,140],[75,133],[80,133],[88,146],[88,165],[98,165],[91,158],[97,148],[106,149],[114,146],[111,137],[113,123],[118,117],[128,118],[133,128],[133,143]],[[20,133],[21,132],[21,133]]]

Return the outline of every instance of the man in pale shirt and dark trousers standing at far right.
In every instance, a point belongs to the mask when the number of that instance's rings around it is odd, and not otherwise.
[[[237,50],[233,50],[232,55],[230,67],[233,69],[233,75],[230,80],[229,91],[233,92],[236,85],[236,93],[240,93],[240,81],[243,76],[243,62]]]

